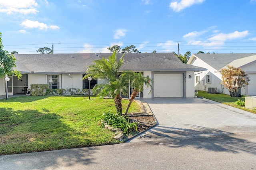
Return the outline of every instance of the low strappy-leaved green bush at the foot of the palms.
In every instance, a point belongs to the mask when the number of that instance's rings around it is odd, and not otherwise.
[[[132,129],[138,131],[137,123],[131,123],[127,115],[114,114],[108,111],[107,113],[103,113],[101,119],[101,127],[105,127],[104,123],[106,123],[107,125],[111,125],[114,128],[120,128],[124,134],[128,134]]]

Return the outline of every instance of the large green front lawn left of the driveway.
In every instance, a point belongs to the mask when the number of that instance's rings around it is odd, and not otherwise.
[[[116,112],[113,99],[26,96],[0,99],[0,155],[118,143],[100,128],[100,116]],[[128,105],[123,100],[123,110]],[[132,103],[129,112],[140,109]],[[123,111],[123,112],[124,112]],[[96,118],[95,118],[96,117]]]

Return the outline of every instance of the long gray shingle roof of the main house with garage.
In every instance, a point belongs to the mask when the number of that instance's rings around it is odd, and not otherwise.
[[[99,56],[97,56],[99,55]],[[94,60],[109,57],[112,53],[77,54],[16,54],[16,70],[22,73],[84,73]],[[204,70],[182,63],[173,53],[118,53],[124,55],[122,70]]]

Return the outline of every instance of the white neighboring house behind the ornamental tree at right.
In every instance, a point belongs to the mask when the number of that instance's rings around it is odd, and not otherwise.
[[[207,68],[206,71],[195,72],[195,90],[214,91],[214,88],[217,88],[218,93],[229,94],[221,85],[220,73],[222,68],[230,65],[242,68],[250,77],[249,85],[242,88],[240,94],[256,95],[256,53],[193,54],[187,64]]]

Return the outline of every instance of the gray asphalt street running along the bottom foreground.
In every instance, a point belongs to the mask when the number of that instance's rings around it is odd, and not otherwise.
[[[0,156],[1,170],[256,170],[256,133]]]

